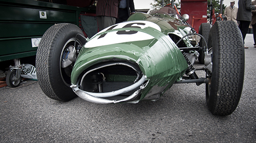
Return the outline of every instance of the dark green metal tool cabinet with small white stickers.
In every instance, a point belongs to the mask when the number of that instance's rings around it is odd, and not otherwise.
[[[40,11],[47,18],[40,18]],[[95,10],[74,6],[32,1],[0,0],[0,62],[36,54],[32,38],[40,38],[55,23],[79,26],[80,13]]]

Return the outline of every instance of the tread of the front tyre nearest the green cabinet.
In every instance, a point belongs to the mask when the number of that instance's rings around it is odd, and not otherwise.
[[[59,23],[51,26],[42,36],[36,53],[36,73],[40,88],[49,98],[59,101],[68,101],[70,99],[61,98],[63,93],[59,93],[59,90],[56,90],[56,84],[58,84],[56,80],[58,79],[54,79],[56,77],[52,75],[53,70],[56,70],[52,66],[53,52],[62,32],[72,26],[77,27],[70,23]]]

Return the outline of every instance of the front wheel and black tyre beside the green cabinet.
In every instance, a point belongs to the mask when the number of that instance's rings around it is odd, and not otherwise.
[[[68,51],[74,50],[75,44],[81,47],[86,43],[77,34],[83,35],[78,26],[60,23],[51,26],[40,40],[36,53],[37,79],[42,91],[52,99],[69,101],[76,97],[70,88],[74,62],[68,60]]]

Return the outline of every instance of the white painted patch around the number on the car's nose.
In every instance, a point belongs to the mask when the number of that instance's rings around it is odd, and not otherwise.
[[[127,21],[118,23],[112,26],[109,26],[105,28],[104,30],[100,31],[100,33],[103,33],[105,31],[120,29],[120,28],[141,28],[144,29],[146,27],[153,27],[158,31],[161,31],[161,28],[150,21]],[[93,37],[84,45],[86,48],[91,47],[98,47],[98,46],[105,46],[105,45],[111,45],[111,44],[117,44],[117,43],[124,43],[124,42],[133,42],[133,41],[143,41],[143,40],[150,40],[154,39],[153,36],[139,32],[139,31],[130,31],[130,30],[118,30],[118,31],[112,31],[109,33],[100,34],[98,33],[97,36]]]

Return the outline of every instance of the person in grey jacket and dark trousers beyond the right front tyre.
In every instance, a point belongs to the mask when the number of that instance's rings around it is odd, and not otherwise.
[[[256,6],[251,5],[251,0],[239,0],[238,1],[238,16],[239,28],[243,36],[243,40],[248,32],[248,28],[251,22],[251,10],[255,10]],[[244,46],[244,48],[248,48]]]

